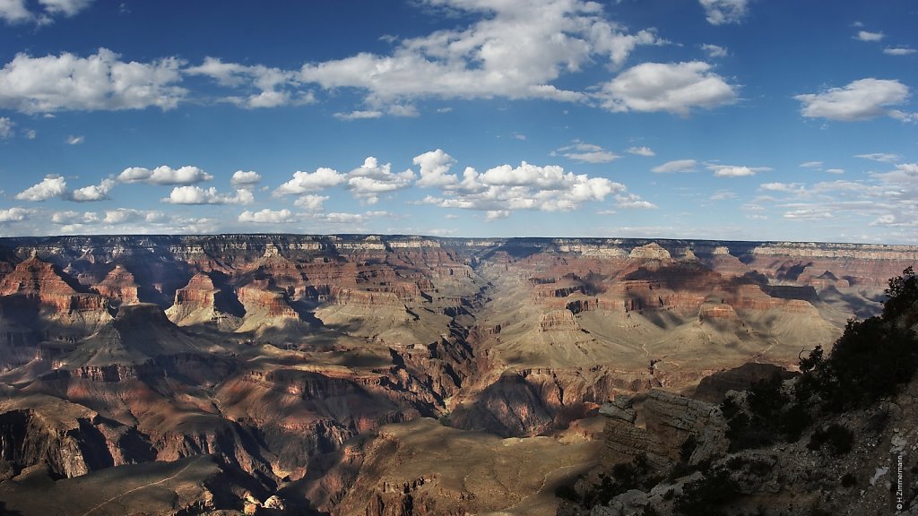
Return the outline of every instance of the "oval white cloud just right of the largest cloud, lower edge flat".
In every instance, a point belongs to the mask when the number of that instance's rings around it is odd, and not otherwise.
[[[620,73],[598,94],[610,111],[668,111],[687,116],[736,101],[734,86],[711,72],[707,62],[645,62]]]

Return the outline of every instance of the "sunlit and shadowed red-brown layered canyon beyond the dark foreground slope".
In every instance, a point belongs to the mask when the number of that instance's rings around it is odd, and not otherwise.
[[[830,348],[916,263],[813,242],[0,239],[0,511],[554,514],[596,466],[672,464],[689,433],[711,434],[693,460],[722,453],[728,390]]]

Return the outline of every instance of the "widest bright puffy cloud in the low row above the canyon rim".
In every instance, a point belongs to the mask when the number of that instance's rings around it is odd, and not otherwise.
[[[557,165],[538,166],[522,162],[478,173],[466,167],[457,185],[443,190],[442,196],[427,196],[424,204],[442,208],[463,208],[495,213],[516,209],[569,211],[607,196],[623,194],[625,186],[605,177],[565,172]]]

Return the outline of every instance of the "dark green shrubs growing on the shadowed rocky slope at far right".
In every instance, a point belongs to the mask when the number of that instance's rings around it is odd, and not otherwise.
[[[800,357],[802,376],[793,387],[793,396],[774,376],[746,391],[744,407],[733,398],[723,401],[731,452],[778,441],[796,442],[812,423],[813,409],[840,413],[899,393],[918,370],[918,339],[901,325],[918,302],[918,279],[912,268],[890,279],[886,293],[890,298],[882,315],[848,320],[832,353],[826,355],[822,346],[817,346]],[[881,416],[874,422],[880,430],[885,426]],[[828,446],[833,454],[845,454],[853,440],[852,432],[834,424],[816,431],[809,446]]]

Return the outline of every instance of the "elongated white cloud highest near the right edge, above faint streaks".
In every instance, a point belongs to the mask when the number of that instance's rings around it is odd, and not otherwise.
[[[800,113],[806,118],[851,122],[892,116],[888,107],[903,104],[909,94],[909,87],[899,81],[868,78],[794,98],[803,104]]]

